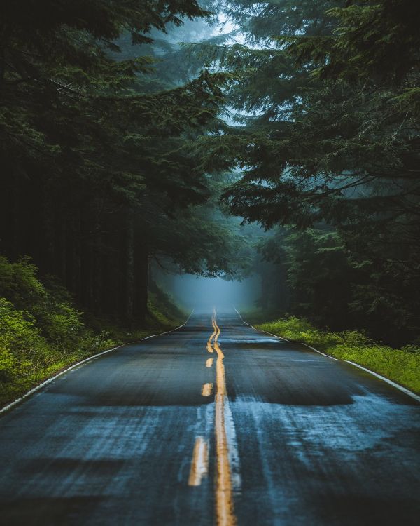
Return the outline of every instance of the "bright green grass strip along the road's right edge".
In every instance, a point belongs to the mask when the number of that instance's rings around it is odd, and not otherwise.
[[[393,349],[374,342],[361,332],[319,330],[309,321],[295,316],[258,323],[255,328],[272,332],[293,342],[303,342],[339,360],[358,363],[420,394],[419,346]]]

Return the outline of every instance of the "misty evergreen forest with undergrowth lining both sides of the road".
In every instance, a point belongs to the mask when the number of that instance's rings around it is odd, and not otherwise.
[[[418,368],[419,25],[412,0],[1,2],[3,398],[185,319],[161,274],[258,276],[260,321]]]

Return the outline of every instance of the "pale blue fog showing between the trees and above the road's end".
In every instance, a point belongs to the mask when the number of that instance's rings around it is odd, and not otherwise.
[[[216,18],[188,20],[183,19],[181,26],[169,25],[167,33],[162,35],[157,30],[152,32],[151,35],[155,38],[155,43],[150,46],[150,51],[153,51],[156,56],[160,59],[160,74],[165,76],[166,69],[172,72],[172,62],[179,63],[179,57],[168,53],[167,46],[162,46],[162,42],[169,42],[174,48],[182,52],[181,43],[199,43],[199,42],[211,42],[211,43],[245,43],[244,34],[239,31],[239,26],[235,25],[232,20],[228,18],[225,13],[217,13]],[[144,47],[144,46],[143,46]],[[193,53],[193,52],[192,52]],[[179,83],[180,85],[188,80],[184,78],[184,75],[194,78],[200,69],[194,69],[198,67],[195,64],[197,56],[183,57],[182,60],[190,60],[193,68],[189,69],[180,67],[176,70],[176,73],[172,72],[172,82]],[[201,59],[199,59],[200,61]],[[176,78],[176,74],[179,74],[179,79]],[[246,113],[233,112],[232,108],[229,109],[225,115],[225,121],[235,126],[239,126],[236,117],[246,116]],[[239,178],[239,173],[237,174]],[[264,232],[258,225],[246,225],[242,227],[241,218],[224,217],[220,212],[209,212],[212,220],[220,220],[230,225],[233,231],[237,231],[237,234],[246,236],[248,244],[244,246],[244,250],[248,250],[246,257],[249,259],[256,259],[257,250],[255,246],[251,246],[249,240],[261,238],[264,236]],[[219,217],[220,216],[220,217]],[[256,245],[256,241],[255,241]],[[230,256],[232,257],[232,256]],[[165,258],[164,258],[165,259]],[[169,269],[172,269],[172,264],[165,262],[165,265]],[[177,264],[174,265],[175,267]],[[179,266],[182,268],[182,265]],[[172,269],[173,270],[173,269]],[[181,271],[181,270],[180,270]],[[223,265],[221,266],[223,271]],[[248,271],[244,271],[244,274],[249,275]],[[261,275],[258,271],[251,277],[244,278],[241,281],[223,278],[205,278],[202,276],[195,276],[193,274],[172,274],[172,271],[165,271],[160,269],[157,265],[153,266],[151,276],[155,279],[156,283],[167,292],[176,304],[183,306],[186,309],[209,309],[216,306],[218,309],[229,308],[235,306],[237,309],[255,309],[256,302],[261,297]]]

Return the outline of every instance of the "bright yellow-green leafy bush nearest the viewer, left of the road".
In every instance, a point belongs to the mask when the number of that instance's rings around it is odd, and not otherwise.
[[[0,256],[0,404],[63,367],[115,345],[82,322],[69,293],[41,283],[29,258]]]

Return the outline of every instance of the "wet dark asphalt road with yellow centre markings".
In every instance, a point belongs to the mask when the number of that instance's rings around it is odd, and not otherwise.
[[[0,419],[2,525],[414,525],[420,404],[195,311]]]

